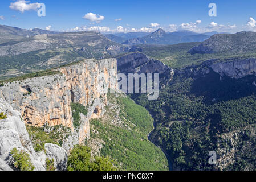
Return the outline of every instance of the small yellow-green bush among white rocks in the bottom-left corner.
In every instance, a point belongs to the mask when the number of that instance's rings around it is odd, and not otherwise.
[[[14,167],[20,171],[34,171],[35,166],[32,164],[29,154],[24,151],[19,152],[17,148],[11,150],[14,159]]]

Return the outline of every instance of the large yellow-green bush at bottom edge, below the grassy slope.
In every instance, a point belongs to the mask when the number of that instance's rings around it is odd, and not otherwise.
[[[87,146],[75,146],[68,156],[68,171],[115,171],[109,158],[91,158],[91,148]]]

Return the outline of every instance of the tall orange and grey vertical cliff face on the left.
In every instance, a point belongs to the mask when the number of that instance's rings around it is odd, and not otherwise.
[[[90,132],[89,119],[100,117],[107,104],[106,91],[117,89],[116,70],[115,59],[88,59],[58,68],[59,75],[7,83],[0,88],[0,98],[18,110],[27,124],[37,127],[47,123],[74,130],[71,102],[87,106],[78,131],[82,143]]]

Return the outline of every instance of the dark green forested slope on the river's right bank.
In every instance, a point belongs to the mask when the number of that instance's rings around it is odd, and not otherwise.
[[[255,79],[220,80],[213,72],[199,78],[176,76],[156,101],[148,101],[145,95],[131,97],[154,115],[152,140],[168,152],[174,169],[220,169],[208,164],[209,151],[217,151],[220,159],[221,150],[229,154],[239,146],[236,162],[221,169],[255,170]],[[225,137],[234,133],[235,142]]]

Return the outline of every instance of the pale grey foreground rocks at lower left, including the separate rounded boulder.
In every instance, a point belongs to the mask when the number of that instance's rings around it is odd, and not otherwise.
[[[2,112],[7,114],[7,118],[0,120],[0,171],[15,169],[13,166],[14,161],[10,154],[13,148],[29,154],[36,171],[44,171],[46,169],[46,158],[54,159],[55,167],[58,170],[66,169],[67,152],[64,148],[46,143],[46,153],[36,153],[29,133],[27,133],[25,123],[22,121],[21,114],[0,98],[0,113]]]

